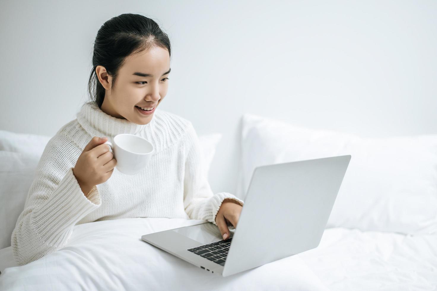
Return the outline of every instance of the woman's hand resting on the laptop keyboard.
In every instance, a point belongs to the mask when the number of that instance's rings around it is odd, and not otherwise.
[[[234,228],[237,228],[238,219],[242,209],[243,206],[241,206],[236,200],[226,198],[222,201],[222,204],[215,215],[215,223],[222,233],[224,240],[229,238],[229,225],[232,224]]]

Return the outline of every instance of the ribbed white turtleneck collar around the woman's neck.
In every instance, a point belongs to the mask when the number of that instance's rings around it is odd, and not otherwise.
[[[155,109],[155,113],[158,109]],[[147,124],[136,124],[127,119],[120,119],[103,112],[97,104],[86,102],[76,115],[77,121],[91,136],[114,137],[120,133],[139,134],[155,124],[155,116]]]

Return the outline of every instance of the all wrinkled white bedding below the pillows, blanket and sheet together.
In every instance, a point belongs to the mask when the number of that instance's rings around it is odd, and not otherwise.
[[[199,222],[126,218],[79,224],[66,247],[25,266],[16,265],[11,247],[2,249],[0,289],[437,291],[437,235],[327,228],[316,249],[225,278],[141,240],[146,233]]]

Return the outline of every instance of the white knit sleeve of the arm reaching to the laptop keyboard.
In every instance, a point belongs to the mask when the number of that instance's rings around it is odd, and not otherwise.
[[[215,195],[209,186],[205,173],[204,158],[201,153],[200,142],[191,122],[188,123],[186,132],[187,158],[185,160],[184,173],[184,207],[185,212],[191,219],[204,219],[213,224],[222,201],[226,198],[236,200],[243,206],[240,200],[231,193],[220,192]]]

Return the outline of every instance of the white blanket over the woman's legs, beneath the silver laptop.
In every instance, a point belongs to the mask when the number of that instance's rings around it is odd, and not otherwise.
[[[125,218],[76,225],[64,248],[2,270],[0,290],[329,290],[299,255],[222,277],[141,240],[200,222]],[[10,247],[0,257],[3,264],[8,258]]]

